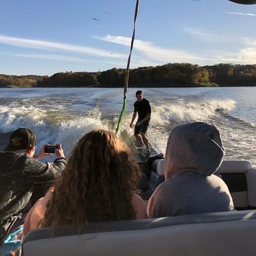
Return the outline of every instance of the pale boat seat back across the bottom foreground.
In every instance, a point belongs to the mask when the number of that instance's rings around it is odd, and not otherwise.
[[[23,256],[255,255],[256,210],[36,229]]]

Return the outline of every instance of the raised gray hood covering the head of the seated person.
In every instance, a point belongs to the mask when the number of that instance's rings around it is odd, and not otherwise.
[[[210,176],[224,157],[220,132],[208,123],[185,123],[173,129],[168,138],[165,160],[166,180],[184,170]]]

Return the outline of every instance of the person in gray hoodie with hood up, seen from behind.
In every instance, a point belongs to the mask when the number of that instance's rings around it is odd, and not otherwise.
[[[227,185],[214,175],[224,157],[220,133],[208,123],[185,123],[168,138],[165,179],[149,198],[149,217],[234,210]]]

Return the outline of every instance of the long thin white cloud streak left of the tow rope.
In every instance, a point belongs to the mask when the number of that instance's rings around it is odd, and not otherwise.
[[[95,55],[101,57],[111,58],[126,58],[126,55],[120,53],[109,53],[106,50],[100,50],[97,48],[91,48],[87,46],[76,46],[68,43],[55,43],[50,41],[39,41],[33,39],[23,39],[18,37],[0,35],[0,43],[4,43],[11,46],[18,46],[22,48],[36,48],[36,49],[51,49],[51,50],[64,50],[69,52],[82,53],[86,55]]]

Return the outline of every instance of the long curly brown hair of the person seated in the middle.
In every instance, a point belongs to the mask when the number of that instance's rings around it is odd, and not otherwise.
[[[48,202],[41,227],[131,220],[140,168],[130,150],[107,130],[92,130],[74,147]]]

